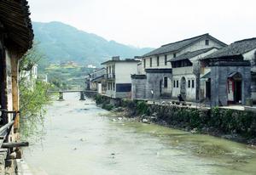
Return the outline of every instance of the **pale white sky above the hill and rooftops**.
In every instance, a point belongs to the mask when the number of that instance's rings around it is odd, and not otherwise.
[[[255,0],[28,0],[32,21],[61,21],[107,40],[158,48],[204,33],[256,37]]]

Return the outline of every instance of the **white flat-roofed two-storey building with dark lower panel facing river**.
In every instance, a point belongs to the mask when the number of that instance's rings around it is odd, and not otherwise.
[[[131,98],[131,74],[137,74],[137,59],[113,57],[102,65],[107,71],[107,92],[111,98]]]

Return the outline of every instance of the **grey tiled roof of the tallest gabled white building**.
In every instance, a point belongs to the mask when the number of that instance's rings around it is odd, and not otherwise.
[[[172,43],[163,45],[160,48],[154,49],[153,51],[151,51],[148,54],[144,54],[143,57],[148,57],[148,56],[157,55],[157,54],[166,54],[166,53],[171,53],[171,52],[177,52],[180,49],[186,48],[186,47],[190,46],[191,44],[193,44],[194,42],[197,42],[197,41],[201,40],[204,37],[211,37],[215,41],[219,42],[221,45],[226,46],[226,44],[224,42],[218,41],[216,38],[210,36],[207,33],[207,34],[204,34],[204,35],[201,35],[201,36],[191,37],[189,39],[185,39],[185,40],[182,40],[182,41],[179,41],[179,42],[172,42]]]

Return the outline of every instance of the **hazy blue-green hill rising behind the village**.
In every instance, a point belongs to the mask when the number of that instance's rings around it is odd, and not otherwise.
[[[83,65],[100,65],[112,56],[133,58],[146,54],[152,48],[133,48],[114,41],[79,31],[71,25],[61,22],[33,22],[38,48],[47,57],[49,63],[74,61]]]

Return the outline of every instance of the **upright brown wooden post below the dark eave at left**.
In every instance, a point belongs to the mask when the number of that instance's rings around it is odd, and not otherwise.
[[[11,70],[12,70],[12,97],[13,97],[13,110],[19,110],[19,61],[18,58],[13,56],[11,58]],[[16,114],[14,132],[17,133],[20,127],[20,116],[19,113]]]

